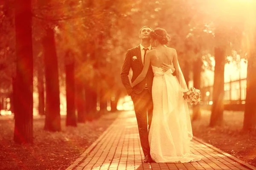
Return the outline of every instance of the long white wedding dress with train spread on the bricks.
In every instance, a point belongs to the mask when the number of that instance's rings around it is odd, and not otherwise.
[[[177,77],[169,69],[152,65],[154,80],[153,118],[149,130],[151,158],[157,163],[199,161],[202,156],[190,153],[192,127],[187,102]]]

